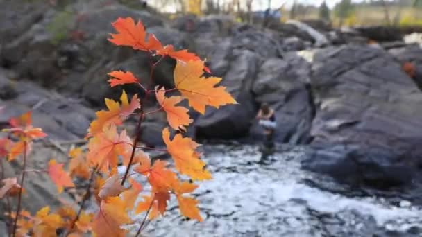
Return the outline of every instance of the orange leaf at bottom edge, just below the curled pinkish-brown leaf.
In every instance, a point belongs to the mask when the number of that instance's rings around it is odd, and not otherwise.
[[[124,237],[126,230],[121,229],[121,225],[129,223],[124,201],[119,197],[109,197],[101,201],[100,211],[92,222],[92,231],[99,237]]]

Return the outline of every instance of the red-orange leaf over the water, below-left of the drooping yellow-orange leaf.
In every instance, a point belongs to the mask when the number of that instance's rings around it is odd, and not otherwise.
[[[140,158],[140,166],[135,172],[148,177],[149,184],[154,193],[171,191],[178,183],[176,173],[166,168],[167,162],[157,160],[151,167],[151,160],[148,157]]]

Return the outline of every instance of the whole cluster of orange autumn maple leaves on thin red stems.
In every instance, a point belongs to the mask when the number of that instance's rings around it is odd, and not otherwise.
[[[125,91],[122,91],[120,101],[105,98],[108,109],[96,112],[96,119],[90,124],[85,137],[87,150],[70,150],[69,164],[60,164],[51,159],[46,170],[30,170],[26,167],[26,161],[34,140],[42,139],[47,134],[41,128],[33,127],[31,112],[10,119],[10,128],[3,130],[8,133],[8,137],[0,139],[0,156],[7,157],[8,161],[22,160],[22,175],[20,180],[17,177],[2,180],[0,198],[15,198],[17,202],[17,210],[7,213],[12,236],[60,234],[74,237],[89,233],[94,236],[124,236],[127,231],[124,226],[135,224],[139,225],[136,234],[139,235],[147,218],[156,218],[166,211],[171,197],[177,200],[182,216],[203,220],[198,201],[189,194],[198,187],[194,182],[211,179],[211,174],[205,169],[205,162],[196,150],[199,144],[184,136],[193,119],[188,114],[189,109],[178,104],[187,100],[190,107],[204,114],[207,106],[219,108],[235,104],[236,101],[228,94],[226,87],[217,86],[221,78],[205,76],[210,74],[210,70],[194,53],[176,51],[171,45],[163,46],[155,35],[146,33],[142,22],[136,23],[130,17],[119,18],[112,26],[117,33],[110,34],[110,42],[149,55],[149,80],[153,80],[154,68],[163,58],[174,58],[175,87],[157,85],[147,88],[142,82],[148,79],[140,80],[130,71],[111,71],[108,73],[110,87],[133,84],[139,88],[140,93],[134,94],[131,100]],[[144,100],[149,96],[155,96],[158,107],[145,111]],[[158,112],[167,115],[169,128],[162,130],[162,139],[167,148],[141,146],[142,121],[149,114]],[[129,116],[137,118],[133,139],[123,126]],[[174,161],[174,167],[169,166],[167,161],[151,159],[146,150],[167,152]],[[126,166],[124,175],[117,172],[119,162]],[[48,173],[59,193],[65,188],[83,188],[85,195],[80,204],[63,206],[57,210],[46,206],[32,215],[22,209],[24,204],[21,203],[25,177],[32,175],[32,172]],[[87,185],[82,187],[75,184],[76,178],[85,179]],[[139,202],[137,199],[140,194],[142,200]],[[99,206],[96,213],[85,210],[87,200],[92,197]],[[140,213],[145,215],[142,222],[137,222],[133,216]]]

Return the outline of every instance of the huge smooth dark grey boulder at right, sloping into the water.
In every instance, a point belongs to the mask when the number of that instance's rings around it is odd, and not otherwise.
[[[373,186],[410,184],[420,164],[422,94],[382,49],[341,46],[314,56],[316,115],[305,168]]]

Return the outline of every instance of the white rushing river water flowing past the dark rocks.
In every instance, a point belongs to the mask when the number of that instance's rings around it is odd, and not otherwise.
[[[144,236],[422,236],[422,208],[407,200],[323,191],[339,186],[301,169],[305,148],[280,146],[261,161],[256,146],[205,146],[213,179],[195,191],[203,222],[171,200]],[[325,190],[325,189],[324,189]],[[142,215],[139,218],[143,218]]]

